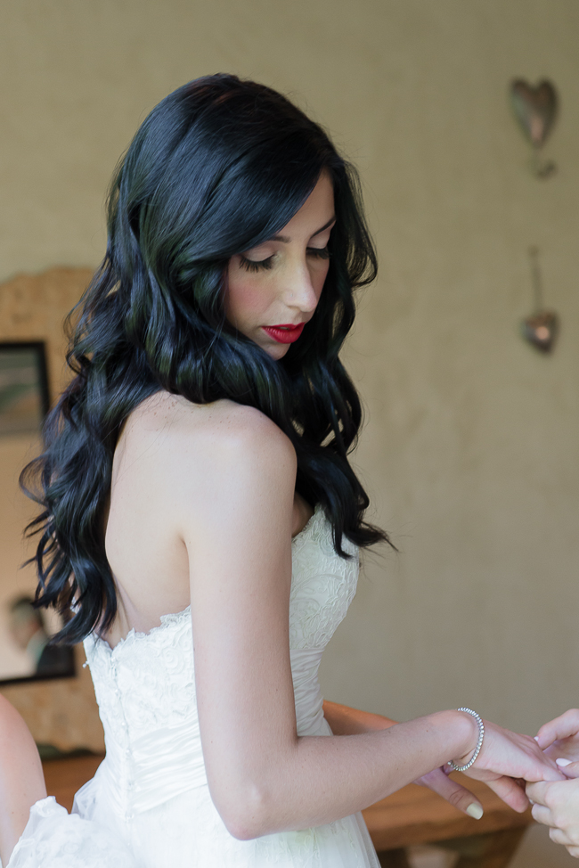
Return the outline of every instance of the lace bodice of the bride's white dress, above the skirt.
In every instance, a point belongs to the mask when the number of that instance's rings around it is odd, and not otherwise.
[[[330,522],[319,506],[292,541],[290,658],[300,734],[324,731],[318,667],[358,575],[355,545],[345,540],[344,546],[351,560],[334,551]],[[112,650],[94,636],[85,648],[107,767],[125,815],[205,783],[190,609],[165,615],[148,634],[131,630]]]

